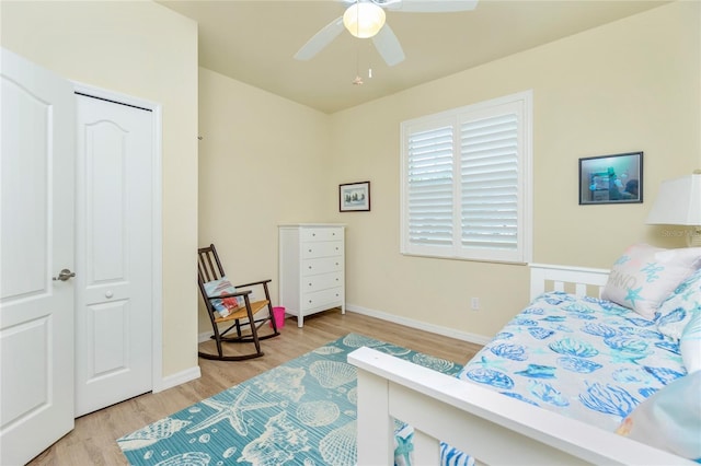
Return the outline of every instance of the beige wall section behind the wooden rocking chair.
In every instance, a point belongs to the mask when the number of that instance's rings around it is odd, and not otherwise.
[[[217,246],[233,283],[273,279],[278,304],[277,225],[331,217],[329,116],[205,68],[199,108],[199,245]]]

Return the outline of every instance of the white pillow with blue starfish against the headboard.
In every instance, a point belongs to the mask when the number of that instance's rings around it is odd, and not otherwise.
[[[701,247],[634,244],[613,264],[601,298],[655,318],[659,304],[701,266]]]

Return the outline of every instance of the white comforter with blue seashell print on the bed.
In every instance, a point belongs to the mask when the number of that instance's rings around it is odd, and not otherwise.
[[[645,398],[686,374],[658,322],[594,298],[544,293],[458,374],[613,431]]]

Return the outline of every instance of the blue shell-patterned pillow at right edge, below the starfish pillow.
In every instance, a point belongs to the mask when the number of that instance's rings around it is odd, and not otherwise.
[[[701,312],[701,269],[697,270],[677,287],[659,306],[657,330],[679,342],[694,312]]]

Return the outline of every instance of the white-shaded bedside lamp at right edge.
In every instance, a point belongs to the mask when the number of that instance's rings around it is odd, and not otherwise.
[[[701,170],[663,182],[645,223],[691,226],[687,245],[701,246]]]

